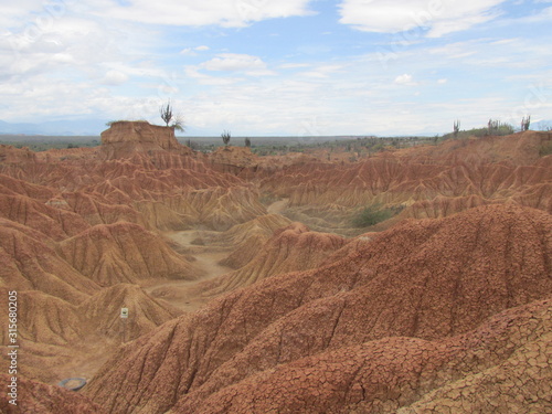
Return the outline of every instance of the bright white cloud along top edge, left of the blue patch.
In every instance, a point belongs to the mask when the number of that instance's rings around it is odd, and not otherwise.
[[[245,26],[251,22],[275,18],[308,15],[311,0],[127,0],[118,4],[108,0],[89,0],[98,15],[150,24],[200,26],[219,24]]]

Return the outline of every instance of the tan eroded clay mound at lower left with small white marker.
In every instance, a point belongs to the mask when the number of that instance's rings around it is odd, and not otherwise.
[[[8,297],[8,289],[0,286],[0,294]],[[51,384],[67,375],[89,378],[112,349],[181,314],[129,284],[81,298],[72,304],[41,290],[18,290],[18,344],[24,349],[19,376]],[[120,318],[124,307],[129,309],[126,320]],[[8,343],[7,330],[0,331],[0,341]],[[0,360],[7,367],[7,355]]]

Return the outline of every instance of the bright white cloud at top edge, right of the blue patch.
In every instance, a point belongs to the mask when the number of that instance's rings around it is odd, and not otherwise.
[[[368,32],[428,30],[427,36],[466,30],[496,18],[505,0],[342,0],[343,24]]]

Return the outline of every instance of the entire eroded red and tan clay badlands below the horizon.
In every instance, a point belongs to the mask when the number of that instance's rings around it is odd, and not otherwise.
[[[551,140],[342,162],[119,121],[0,146],[0,411],[552,412]]]

